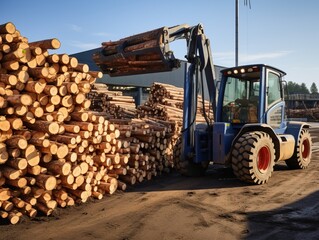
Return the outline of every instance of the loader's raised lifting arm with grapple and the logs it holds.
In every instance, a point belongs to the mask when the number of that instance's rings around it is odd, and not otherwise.
[[[180,66],[169,43],[185,39],[189,66],[184,81],[184,116],[183,116],[183,158],[195,154],[194,131],[197,96],[204,94],[204,79],[209,93],[211,107],[215,115],[216,87],[215,72],[210,50],[203,26],[190,27],[186,24],[174,27],[162,27],[115,42],[102,43],[102,50],[94,55],[100,68],[110,76],[171,71]],[[203,96],[204,98],[205,96]],[[212,121],[206,116],[208,126]]]

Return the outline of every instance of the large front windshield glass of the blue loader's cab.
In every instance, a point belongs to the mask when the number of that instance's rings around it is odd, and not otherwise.
[[[237,78],[229,76],[226,80],[222,120],[231,123],[258,122],[259,74],[255,77]]]

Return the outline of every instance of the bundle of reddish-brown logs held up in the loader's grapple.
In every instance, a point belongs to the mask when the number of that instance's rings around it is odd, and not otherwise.
[[[110,76],[171,71],[180,66],[165,42],[165,27],[103,42],[93,56],[95,63]]]

